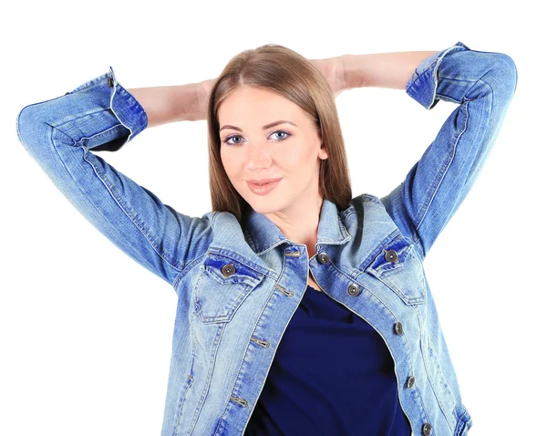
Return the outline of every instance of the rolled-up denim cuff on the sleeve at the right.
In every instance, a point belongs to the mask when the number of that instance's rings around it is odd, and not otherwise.
[[[407,94],[418,101],[424,108],[430,110],[439,103],[437,86],[439,84],[439,64],[442,58],[451,51],[470,50],[461,41],[424,59],[416,68],[407,83]]]

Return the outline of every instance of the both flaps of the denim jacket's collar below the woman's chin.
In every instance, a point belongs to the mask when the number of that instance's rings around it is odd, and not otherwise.
[[[279,244],[295,244],[269,218],[263,213],[257,213],[253,208],[250,208],[243,222],[245,240],[258,255]],[[318,251],[318,244],[344,244],[350,239],[351,236],[347,232],[336,204],[324,197],[317,227],[315,250]]]

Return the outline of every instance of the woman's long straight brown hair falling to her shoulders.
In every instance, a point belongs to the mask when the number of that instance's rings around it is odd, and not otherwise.
[[[315,119],[322,147],[328,154],[328,159],[320,163],[319,191],[345,210],[352,192],[334,94],[323,74],[308,59],[276,44],[248,49],[232,57],[212,87],[207,113],[212,210],[232,213],[242,223],[250,207],[224,171],[219,136],[218,111],[222,101],[241,86],[273,91]]]

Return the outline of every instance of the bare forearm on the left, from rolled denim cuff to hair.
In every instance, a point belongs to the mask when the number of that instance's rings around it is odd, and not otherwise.
[[[148,128],[176,121],[206,119],[214,79],[166,87],[130,88],[148,116]]]

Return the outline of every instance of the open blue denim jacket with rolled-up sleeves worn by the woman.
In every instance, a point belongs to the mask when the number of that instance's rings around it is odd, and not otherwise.
[[[243,434],[310,271],[384,338],[413,434],[466,435],[470,412],[423,261],[480,173],[516,84],[505,54],[458,42],[425,59],[408,95],[426,109],[458,107],[387,196],[364,193],[343,211],[323,201],[309,259],[261,213],[242,224],[232,213],[185,215],[93,153],[118,151],[148,125],[112,67],[23,108],[17,134],[79,212],[177,294],[162,436]]]

